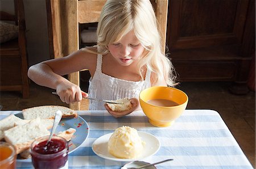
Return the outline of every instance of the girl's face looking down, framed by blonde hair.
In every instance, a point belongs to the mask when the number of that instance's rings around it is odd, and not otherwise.
[[[123,36],[121,40],[109,44],[108,48],[114,59],[123,66],[131,65],[141,57],[144,51],[144,47],[142,47],[133,31]]]

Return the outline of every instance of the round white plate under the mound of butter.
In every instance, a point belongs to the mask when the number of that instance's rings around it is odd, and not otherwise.
[[[130,162],[130,161],[141,160],[141,159],[150,157],[151,155],[154,155],[160,148],[160,141],[158,140],[158,138],[156,138],[150,133],[138,131],[139,137],[141,137],[142,141],[145,142],[142,154],[139,155],[139,157],[133,158],[133,159],[117,158],[109,154],[109,151],[108,151],[108,141],[112,134],[113,133],[105,134],[104,136],[97,138],[97,140],[93,142],[92,150],[95,154],[109,160],[115,160],[120,162]]]

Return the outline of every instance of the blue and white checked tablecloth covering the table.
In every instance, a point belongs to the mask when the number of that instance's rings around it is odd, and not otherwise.
[[[19,111],[1,111],[0,119]],[[161,143],[159,151],[146,159],[158,162],[173,158],[157,168],[253,168],[230,133],[218,112],[206,109],[185,110],[175,123],[167,128],[152,126],[142,111],[115,119],[106,111],[79,111],[89,125],[89,136],[84,144],[69,154],[69,168],[120,168],[125,162],[98,157],[92,143],[119,126],[127,125],[156,136]],[[31,163],[17,163],[17,168],[32,168]]]

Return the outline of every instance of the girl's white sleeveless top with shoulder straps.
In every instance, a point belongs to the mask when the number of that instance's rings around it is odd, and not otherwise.
[[[96,71],[89,80],[88,95],[90,98],[117,100],[122,98],[137,98],[145,88],[151,87],[150,74],[147,70],[144,81],[133,82],[111,77],[102,73],[102,55],[97,56]],[[104,102],[89,100],[89,110],[105,110]]]

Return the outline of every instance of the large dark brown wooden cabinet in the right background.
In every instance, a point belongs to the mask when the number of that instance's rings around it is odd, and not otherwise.
[[[171,0],[167,45],[181,81],[234,81],[247,91],[255,50],[254,0]]]

